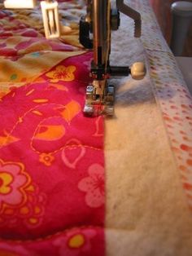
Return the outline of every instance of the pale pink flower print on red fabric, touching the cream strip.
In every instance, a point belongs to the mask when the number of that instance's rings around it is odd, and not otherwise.
[[[104,169],[94,164],[89,166],[89,176],[81,179],[78,188],[86,192],[85,202],[89,207],[97,208],[104,204]]]

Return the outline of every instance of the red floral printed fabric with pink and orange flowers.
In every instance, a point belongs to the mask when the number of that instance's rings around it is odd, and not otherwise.
[[[15,29],[0,42],[1,74],[10,77],[7,88],[0,84],[0,255],[102,256],[103,117],[82,114],[92,54],[73,54],[33,82],[24,84],[23,77],[18,86],[17,61],[27,60],[26,54],[34,62],[46,55],[43,47],[37,51],[39,35],[23,29],[22,40],[14,38]],[[20,37],[21,32],[22,26]],[[61,42],[41,41],[53,51],[73,51]],[[20,42],[22,55],[13,42]],[[18,73],[9,74],[9,64]]]

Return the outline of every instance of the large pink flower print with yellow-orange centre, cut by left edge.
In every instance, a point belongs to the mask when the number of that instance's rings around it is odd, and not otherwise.
[[[30,183],[24,166],[0,160],[0,213],[5,205],[21,205],[26,201],[24,188]]]

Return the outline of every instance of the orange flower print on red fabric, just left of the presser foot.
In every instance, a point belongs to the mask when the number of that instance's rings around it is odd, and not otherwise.
[[[73,81],[75,79],[74,72],[76,71],[75,66],[65,67],[63,65],[57,66],[53,71],[46,73],[46,77],[50,77],[50,82],[59,81]]]

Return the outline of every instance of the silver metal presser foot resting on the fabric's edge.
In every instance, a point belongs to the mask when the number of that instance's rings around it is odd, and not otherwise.
[[[99,82],[94,81],[86,88],[84,114],[88,117],[99,115],[113,116],[114,114],[114,86],[98,87]]]

